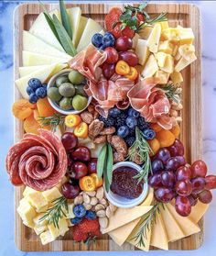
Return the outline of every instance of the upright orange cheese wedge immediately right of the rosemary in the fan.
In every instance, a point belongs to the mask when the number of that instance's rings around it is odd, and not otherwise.
[[[151,245],[162,250],[168,250],[167,231],[163,218],[157,212],[156,221],[152,226]]]

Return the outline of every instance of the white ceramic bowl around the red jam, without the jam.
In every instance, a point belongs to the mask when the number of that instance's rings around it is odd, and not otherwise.
[[[133,161],[121,161],[118,163],[115,163],[113,165],[113,171],[119,167],[131,167],[133,169],[135,169],[136,171],[140,172],[142,170],[142,168],[135,164]],[[123,196],[120,195],[116,195],[113,194],[113,192],[110,190],[108,193],[105,190],[104,187],[104,191],[105,191],[105,195],[106,198],[114,205],[120,208],[131,208],[131,207],[135,207],[140,205],[146,198],[146,195],[148,193],[148,184],[145,183],[144,184],[144,188],[143,188],[143,192],[141,195],[139,195],[139,197],[135,198],[135,199],[128,199],[125,198]]]

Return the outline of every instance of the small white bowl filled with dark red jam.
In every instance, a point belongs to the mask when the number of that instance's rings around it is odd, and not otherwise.
[[[107,199],[117,207],[131,208],[140,205],[148,193],[145,181],[138,183],[135,175],[142,168],[132,161],[121,161],[113,165],[113,180]]]

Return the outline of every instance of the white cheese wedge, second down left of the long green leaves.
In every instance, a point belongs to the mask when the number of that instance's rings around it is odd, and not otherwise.
[[[69,55],[65,52],[62,52],[55,47],[50,46],[45,41],[38,39],[36,36],[23,31],[23,50],[28,50],[40,54],[56,56],[61,59],[68,59]],[[70,57],[71,59],[71,57]]]

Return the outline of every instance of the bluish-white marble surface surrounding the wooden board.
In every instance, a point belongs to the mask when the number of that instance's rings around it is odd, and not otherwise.
[[[22,1],[27,2],[27,1]],[[35,1],[34,1],[35,2]],[[44,1],[45,2],[45,1]],[[47,1],[46,1],[47,2]],[[93,2],[93,1],[91,1]],[[176,1],[183,2],[183,1]],[[202,75],[203,75],[203,160],[211,173],[216,174],[216,1],[185,1],[200,7],[202,15]],[[13,41],[12,17],[14,8],[21,1],[0,1],[0,256],[10,255],[71,255],[71,252],[23,252],[16,249],[14,241],[14,195],[5,173],[5,154],[13,144]],[[199,250],[150,251],[148,255],[215,255],[216,193],[205,216],[205,238]],[[133,252],[72,252],[72,255],[143,255]]]

